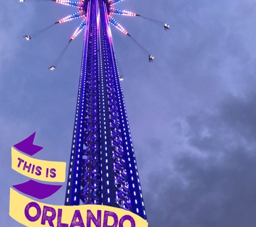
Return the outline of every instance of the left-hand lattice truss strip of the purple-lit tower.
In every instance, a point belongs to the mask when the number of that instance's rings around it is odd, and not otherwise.
[[[86,112],[82,161],[81,200],[84,204],[102,204],[100,160],[100,115],[98,45],[96,17],[91,10],[87,40]]]

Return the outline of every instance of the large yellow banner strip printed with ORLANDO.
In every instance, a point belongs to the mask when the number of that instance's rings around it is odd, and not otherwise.
[[[106,205],[49,205],[10,189],[10,216],[27,227],[148,227],[138,215]]]

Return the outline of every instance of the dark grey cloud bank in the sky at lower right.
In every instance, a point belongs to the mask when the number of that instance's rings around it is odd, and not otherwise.
[[[218,113],[186,118],[181,133],[192,152],[173,156],[171,169],[154,169],[147,181],[151,227],[254,226],[255,102],[254,94],[245,100],[232,96]]]

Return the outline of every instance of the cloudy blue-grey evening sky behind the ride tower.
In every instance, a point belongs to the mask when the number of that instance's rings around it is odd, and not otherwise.
[[[117,7],[117,6],[116,6]],[[112,27],[149,227],[256,223],[256,2],[126,0],[115,16],[148,56]],[[0,220],[9,190],[27,181],[11,147],[36,131],[34,158],[70,158],[82,33],[53,72],[79,20],[31,34],[75,12],[54,2],[0,1]],[[63,205],[65,186],[44,203]]]

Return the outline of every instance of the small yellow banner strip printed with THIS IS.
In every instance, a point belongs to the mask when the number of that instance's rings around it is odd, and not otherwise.
[[[44,161],[11,148],[11,167],[24,176],[40,181],[65,182],[66,162]]]

